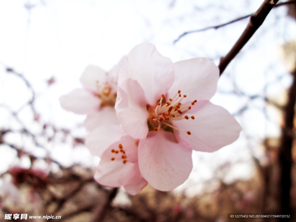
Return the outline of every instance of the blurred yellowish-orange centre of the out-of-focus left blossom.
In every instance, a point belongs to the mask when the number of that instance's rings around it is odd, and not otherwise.
[[[104,83],[100,83],[98,80],[96,81],[97,92],[94,94],[95,96],[99,97],[102,102],[100,107],[104,106],[115,106],[116,102],[116,88],[117,82],[115,81],[106,81]],[[113,90],[115,89],[115,91]]]

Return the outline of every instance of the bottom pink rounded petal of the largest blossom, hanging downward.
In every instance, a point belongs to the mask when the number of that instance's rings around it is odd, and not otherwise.
[[[182,147],[171,132],[150,131],[139,142],[139,168],[155,189],[169,191],[184,183],[192,170],[192,150]]]

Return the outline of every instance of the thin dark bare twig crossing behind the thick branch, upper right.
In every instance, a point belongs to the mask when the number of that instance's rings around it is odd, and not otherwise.
[[[296,3],[296,0],[292,0],[292,1],[287,1],[287,2],[281,2],[281,3],[278,3],[276,4],[274,7],[277,8],[279,6],[283,6],[283,5],[288,5],[288,4],[294,4]],[[206,30],[209,30],[209,29],[218,29],[218,28],[222,28],[223,26],[226,26],[226,25],[230,25],[234,22],[238,22],[238,21],[241,21],[241,20],[244,20],[248,17],[250,17],[251,15],[253,15],[254,13],[251,13],[249,15],[245,15],[245,16],[242,16],[242,17],[239,17],[239,18],[236,18],[234,20],[231,20],[229,22],[226,22],[226,23],[223,23],[223,24],[220,24],[220,25],[214,25],[214,26],[208,26],[206,28],[201,28],[201,29],[197,29],[197,30],[192,30],[192,31],[187,31],[187,32],[184,32],[183,34],[181,34],[176,40],[174,40],[174,44],[179,41],[183,36],[186,36],[188,34],[191,34],[191,33],[195,33],[195,32],[202,32],[202,31],[206,31]]]

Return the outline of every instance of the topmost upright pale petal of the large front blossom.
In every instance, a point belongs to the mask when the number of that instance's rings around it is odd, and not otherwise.
[[[144,90],[147,103],[156,105],[174,81],[171,59],[162,56],[155,45],[145,42],[134,47],[127,55],[127,62],[119,73],[118,83],[131,78],[138,81]]]

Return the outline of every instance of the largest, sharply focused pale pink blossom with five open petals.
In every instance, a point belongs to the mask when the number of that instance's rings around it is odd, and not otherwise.
[[[150,43],[128,54],[115,110],[123,130],[139,139],[139,170],[154,188],[168,191],[181,185],[192,170],[192,150],[214,152],[239,137],[239,123],[209,102],[218,78],[212,61],[173,63]]]

